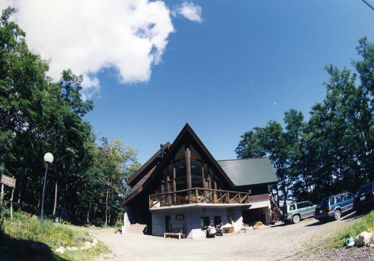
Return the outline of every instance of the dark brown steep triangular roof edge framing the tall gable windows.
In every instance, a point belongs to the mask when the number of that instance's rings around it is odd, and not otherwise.
[[[162,168],[165,167],[165,164],[168,164],[168,162],[171,160],[171,157],[173,157],[175,155],[175,153],[178,151],[181,141],[188,134],[194,140],[194,142],[200,147],[202,152],[205,154],[205,155],[201,155],[201,156],[206,156],[206,158],[208,158],[212,162],[214,167],[217,168],[217,170],[220,172],[222,177],[227,181],[227,183],[234,189],[235,188],[234,183],[226,175],[226,173],[223,171],[221,166],[213,158],[212,154],[205,147],[205,145],[202,143],[202,141],[199,139],[199,137],[197,137],[196,133],[192,130],[192,128],[190,127],[190,125],[188,125],[188,123],[186,123],[186,125],[184,125],[183,129],[181,130],[181,132],[178,134],[177,138],[172,143],[168,153],[166,153],[166,155],[163,157],[163,159],[157,165],[156,169],[153,171],[153,173],[150,175],[150,177],[144,182],[143,187],[147,186],[150,183],[150,181],[153,179],[154,175],[156,173],[158,173]]]

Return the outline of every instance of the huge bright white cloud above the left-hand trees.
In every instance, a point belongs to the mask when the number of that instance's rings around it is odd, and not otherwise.
[[[163,1],[0,0],[1,9],[8,5],[29,48],[52,59],[49,76],[59,80],[68,68],[84,75],[85,98],[99,91],[96,74],[105,67],[116,68],[121,83],[148,81],[174,32]]]

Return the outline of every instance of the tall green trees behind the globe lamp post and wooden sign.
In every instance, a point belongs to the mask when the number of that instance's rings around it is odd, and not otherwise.
[[[45,214],[61,206],[70,222],[114,224],[122,216],[118,202],[131,191],[125,181],[140,167],[137,151],[105,137],[96,145],[83,120],[93,103],[82,99],[82,75],[67,69],[59,82],[47,77],[48,62],[9,21],[14,12],[9,7],[0,19],[0,172],[17,180],[14,205],[40,212],[43,155],[51,152]]]

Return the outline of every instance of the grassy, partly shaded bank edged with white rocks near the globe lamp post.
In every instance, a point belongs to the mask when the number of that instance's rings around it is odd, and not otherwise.
[[[33,241],[43,242],[54,251],[59,246],[75,246],[79,248],[83,243],[90,240],[88,232],[71,229],[67,226],[60,226],[49,219],[45,219],[43,229],[40,226],[40,219],[33,219],[25,212],[13,213],[13,221],[9,213],[5,214],[4,234],[0,234],[1,244],[0,260],[30,260],[25,256],[24,248]],[[54,252],[44,259],[45,261],[88,261],[93,257],[108,252],[107,246],[98,242],[95,248],[79,251],[65,251],[64,254]],[[77,259],[78,258],[78,259]]]

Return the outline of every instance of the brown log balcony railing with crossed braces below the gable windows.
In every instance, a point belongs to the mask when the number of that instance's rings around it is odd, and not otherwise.
[[[249,203],[249,193],[194,187],[192,189],[177,190],[149,196],[150,208],[153,206],[173,206],[188,203]]]

